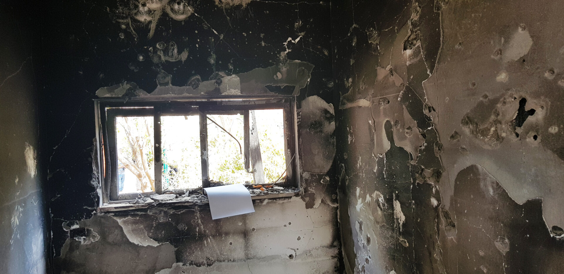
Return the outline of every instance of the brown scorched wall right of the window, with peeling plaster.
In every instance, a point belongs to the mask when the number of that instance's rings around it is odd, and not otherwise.
[[[561,271],[562,6],[332,5],[347,271]]]

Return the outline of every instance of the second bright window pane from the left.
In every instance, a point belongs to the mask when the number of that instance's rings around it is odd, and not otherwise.
[[[200,116],[162,116],[162,190],[202,185]]]

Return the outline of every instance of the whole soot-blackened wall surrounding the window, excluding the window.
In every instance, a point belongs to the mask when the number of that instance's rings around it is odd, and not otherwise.
[[[43,15],[42,132],[59,273],[333,273],[340,237],[328,2],[60,1]],[[303,195],[96,213],[98,96],[297,95]],[[64,107],[47,107],[64,104]],[[304,138],[303,136],[307,138]],[[95,157],[94,157],[95,158]]]

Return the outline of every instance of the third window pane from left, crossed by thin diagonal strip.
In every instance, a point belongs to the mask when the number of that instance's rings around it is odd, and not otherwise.
[[[208,115],[244,145],[243,115]],[[209,178],[227,184],[252,183],[253,174],[245,170],[245,156],[227,132],[208,120]]]

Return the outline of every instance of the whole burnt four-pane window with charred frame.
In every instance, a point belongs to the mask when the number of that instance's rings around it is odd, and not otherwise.
[[[221,184],[297,186],[293,96],[96,100],[103,202]]]

